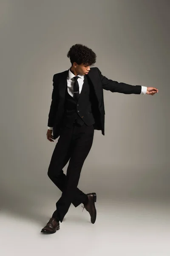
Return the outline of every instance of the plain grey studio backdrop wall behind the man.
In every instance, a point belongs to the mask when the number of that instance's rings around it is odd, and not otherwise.
[[[155,96],[104,90],[105,136],[95,131],[79,189],[98,200],[169,198],[169,1],[0,1],[1,209],[38,218],[61,192],[47,176],[54,73],[80,43],[109,79],[156,87]],[[66,171],[66,167],[64,170]]]

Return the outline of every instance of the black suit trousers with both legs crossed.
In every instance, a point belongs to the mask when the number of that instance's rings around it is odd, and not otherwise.
[[[88,156],[94,138],[94,126],[78,125],[63,127],[59,136],[51,162],[48,168],[48,177],[62,191],[62,196],[56,203],[57,209],[52,217],[62,222],[71,203],[77,207],[85,202],[87,195],[77,188],[83,163]],[[64,166],[68,163],[66,175]]]

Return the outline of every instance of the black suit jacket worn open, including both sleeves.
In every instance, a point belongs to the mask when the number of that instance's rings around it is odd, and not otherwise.
[[[65,70],[64,72],[57,73],[53,76],[53,92],[51,107],[48,114],[48,126],[53,127],[54,140],[59,137],[61,129],[60,123],[64,114],[65,90],[67,88],[68,71],[69,70]],[[93,84],[94,93],[98,102],[98,110],[100,113],[100,125],[94,125],[94,129],[102,130],[102,134],[105,135],[105,107],[103,89],[110,90],[113,93],[140,94],[142,87],[141,85],[134,86],[108,79],[102,75],[97,67],[92,67],[86,76],[88,76]]]

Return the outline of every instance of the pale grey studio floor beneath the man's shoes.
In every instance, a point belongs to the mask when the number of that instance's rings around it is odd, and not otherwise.
[[[81,205],[71,205],[60,230],[40,233],[54,210],[54,201],[14,199],[1,203],[2,256],[115,255],[170,256],[170,202],[97,198],[97,218]]]

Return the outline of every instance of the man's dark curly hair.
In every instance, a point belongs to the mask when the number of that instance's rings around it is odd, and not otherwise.
[[[70,58],[71,65],[76,62],[79,65],[83,63],[91,66],[96,62],[96,53],[82,44],[73,45],[70,48],[67,57]]]

